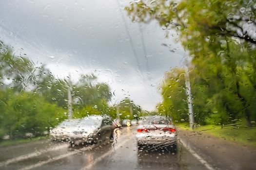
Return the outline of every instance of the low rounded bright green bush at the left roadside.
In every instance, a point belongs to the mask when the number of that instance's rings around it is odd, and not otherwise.
[[[9,90],[10,91],[10,90]],[[25,136],[26,133],[41,135],[55,126],[58,120],[66,119],[64,110],[46,102],[42,96],[31,92],[14,94],[9,92],[5,112],[2,112],[2,135],[11,138]]]

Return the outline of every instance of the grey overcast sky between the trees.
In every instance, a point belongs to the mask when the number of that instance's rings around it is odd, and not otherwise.
[[[76,81],[79,74],[94,73],[115,91],[112,103],[129,97],[142,109],[154,110],[164,72],[182,64],[182,48],[175,38],[164,37],[158,23],[133,23],[123,10],[128,4],[1,0],[0,39],[34,63],[46,64],[59,78],[70,73]]]

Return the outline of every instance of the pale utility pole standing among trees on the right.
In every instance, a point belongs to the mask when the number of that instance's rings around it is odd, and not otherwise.
[[[189,71],[187,66],[187,59],[186,59],[186,66],[185,68],[185,85],[186,85],[186,95],[187,95],[187,102],[188,102],[188,114],[189,114],[189,126],[190,128],[194,129],[195,120],[194,120],[194,113],[193,113],[193,101],[192,101],[192,93],[189,81]]]

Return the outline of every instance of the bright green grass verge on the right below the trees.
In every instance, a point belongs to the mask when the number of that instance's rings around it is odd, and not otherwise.
[[[183,130],[191,130],[187,124],[177,124],[177,127]],[[243,125],[234,125],[221,128],[217,125],[197,126],[194,131],[218,136],[230,141],[236,141],[242,145],[256,147],[256,126],[248,128]]]

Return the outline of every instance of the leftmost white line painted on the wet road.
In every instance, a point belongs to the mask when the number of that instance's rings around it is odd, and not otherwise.
[[[68,145],[60,145],[60,146],[52,147],[52,148],[45,149],[45,150],[42,149],[42,150],[36,151],[34,153],[23,154],[23,155],[20,155],[18,157],[15,157],[15,158],[12,158],[12,159],[7,159],[5,161],[0,162],[0,167],[6,166],[6,165],[11,164],[11,163],[19,162],[19,161],[22,161],[22,160],[25,160],[25,159],[29,159],[31,157],[39,156],[43,153],[47,153],[47,152],[50,152],[50,151],[56,151],[56,150],[60,150],[60,149],[67,148],[67,147],[68,147]]]

